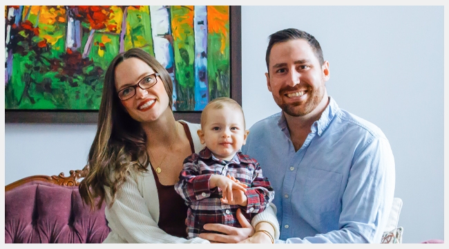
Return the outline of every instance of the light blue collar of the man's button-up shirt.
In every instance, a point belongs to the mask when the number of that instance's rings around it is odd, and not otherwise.
[[[329,96],[329,104],[327,104],[326,109],[324,109],[323,113],[321,113],[321,118],[319,120],[316,120],[314,124],[312,124],[311,131],[317,132],[318,136],[321,136],[321,134],[329,126],[330,122],[334,119],[334,116],[338,109],[338,104],[336,104],[335,100]],[[282,114],[278,121],[278,127],[284,133],[289,133],[284,112],[282,111],[281,113]]]

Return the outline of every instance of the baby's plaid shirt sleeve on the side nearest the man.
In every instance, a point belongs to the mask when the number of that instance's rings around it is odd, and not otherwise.
[[[250,168],[250,167],[249,167]],[[247,213],[260,213],[273,201],[274,190],[267,177],[262,176],[259,163],[255,164],[253,181],[246,192],[248,205],[243,207]]]

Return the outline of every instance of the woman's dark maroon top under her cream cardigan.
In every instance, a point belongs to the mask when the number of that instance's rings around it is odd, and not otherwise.
[[[180,122],[184,126],[187,138],[190,142],[190,148],[192,154],[195,153],[195,147],[193,147],[193,140],[190,134],[189,126]],[[157,195],[159,196],[159,223],[157,225],[164,232],[176,236],[187,238],[187,225],[185,223],[187,218],[187,205],[181,196],[175,192],[175,185],[162,185],[159,182],[159,177],[151,167],[154,179],[156,181]]]

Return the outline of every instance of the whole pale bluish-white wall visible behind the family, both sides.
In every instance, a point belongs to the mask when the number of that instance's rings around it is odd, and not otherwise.
[[[250,127],[279,111],[265,86],[267,37],[312,33],[338,105],[379,126],[396,162],[404,243],[443,237],[443,7],[242,6],[242,106]],[[5,124],[5,184],[82,169],[93,124]]]

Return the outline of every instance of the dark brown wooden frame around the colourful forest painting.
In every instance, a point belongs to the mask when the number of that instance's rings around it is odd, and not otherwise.
[[[229,97],[242,104],[241,7],[229,6]],[[175,120],[200,122],[201,111],[173,111]],[[5,109],[6,123],[97,124],[98,111]]]

